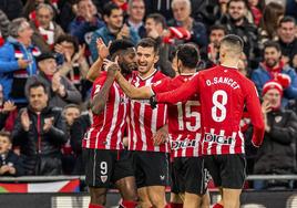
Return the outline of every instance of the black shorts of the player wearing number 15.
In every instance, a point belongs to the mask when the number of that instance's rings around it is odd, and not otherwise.
[[[207,187],[203,157],[177,157],[172,163],[172,193],[204,195]]]

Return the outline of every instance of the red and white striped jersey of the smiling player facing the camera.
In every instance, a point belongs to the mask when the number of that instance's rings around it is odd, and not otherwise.
[[[150,86],[164,77],[166,76],[156,70],[145,80],[140,77],[137,72],[134,72],[130,82],[136,87]],[[160,104],[156,108],[152,110],[148,100],[131,100],[129,105],[129,149],[167,153],[167,143],[161,144],[160,146],[154,146],[153,144],[153,135],[166,124],[167,106]]]

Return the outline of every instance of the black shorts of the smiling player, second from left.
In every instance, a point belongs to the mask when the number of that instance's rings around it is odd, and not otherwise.
[[[168,154],[134,150],[133,166],[137,188],[168,184]]]

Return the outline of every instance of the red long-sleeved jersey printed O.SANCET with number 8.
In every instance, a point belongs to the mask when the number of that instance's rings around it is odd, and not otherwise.
[[[203,154],[245,153],[239,126],[245,106],[254,126],[252,142],[262,144],[265,129],[256,87],[236,69],[218,65],[203,70],[177,90],[156,94],[156,100],[176,103],[195,93],[202,103]]]

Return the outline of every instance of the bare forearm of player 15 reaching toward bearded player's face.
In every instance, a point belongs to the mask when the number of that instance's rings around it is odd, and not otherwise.
[[[120,72],[116,72],[115,77],[121,89],[130,98],[133,100],[150,98],[153,95],[153,92],[151,91],[150,86],[142,86],[137,89],[132,84],[130,84]]]

